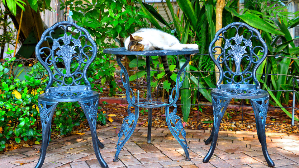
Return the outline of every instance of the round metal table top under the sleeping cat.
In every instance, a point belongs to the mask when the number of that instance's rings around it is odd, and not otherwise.
[[[147,50],[147,51],[128,51],[125,47],[104,49],[106,54],[115,55],[147,55],[147,56],[160,56],[160,55],[183,55],[183,54],[196,54],[199,53],[198,49],[182,49],[182,50]]]

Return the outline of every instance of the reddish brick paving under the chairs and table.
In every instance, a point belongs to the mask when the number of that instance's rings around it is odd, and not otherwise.
[[[116,124],[116,123],[113,123]],[[118,129],[120,126],[116,126]],[[147,143],[147,128],[137,127],[113,162],[117,142],[113,126],[97,130],[105,148],[100,149],[109,168],[250,168],[268,167],[256,132],[219,131],[218,144],[209,163],[202,163],[210,145],[204,140],[210,131],[186,130],[191,161],[185,161],[184,151],[173,138],[168,128],[152,128],[152,143]],[[276,167],[299,167],[299,134],[266,133],[268,151]],[[134,140],[134,141],[132,141]],[[36,166],[40,145],[24,147],[0,154],[0,168],[29,168]],[[71,135],[50,142],[43,168],[46,167],[100,167],[93,151],[90,132]]]

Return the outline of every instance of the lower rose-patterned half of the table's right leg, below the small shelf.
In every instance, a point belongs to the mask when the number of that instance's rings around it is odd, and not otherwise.
[[[180,145],[183,147],[183,149],[185,151],[185,154],[186,154],[185,160],[186,161],[190,161],[191,159],[190,159],[190,156],[189,156],[189,152],[187,150],[188,143],[187,143],[187,140],[186,140],[186,131],[183,128],[183,124],[182,124],[181,118],[176,115],[176,113],[177,113],[177,105],[173,104],[173,106],[175,108],[174,108],[173,112],[170,112],[170,113],[169,113],[169,106],[165,107],[165,114],[166,114],[167,126],[168,126],[170,132],[172,133],[173,137],[175,139],[177,139],[178,143],[180,143]],[[172,124],[175,127],[173,127],[171,125],[170,121],[172,122]],[[184,139],[181,139],[181,138],[178,137],[178,135],[180,134],[180,132],[181,132],[181,134],[182,134],[182,136],[183,136]]]

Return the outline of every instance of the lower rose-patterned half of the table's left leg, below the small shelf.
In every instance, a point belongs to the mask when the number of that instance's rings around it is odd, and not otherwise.
[[[121,130],[118,132],[118,141],[117,141],[117,144],[116,144],[116,153],[115,153],[115,156],[114,156],[114,159],[113,161],[114,162],[117,162],[119,161],[118,160],[118,155],[119,155],[119,152],[121,152],[121,148],[125,145],[125,143],[128,141],[128,139],[131,137],[132,133],[134,132],[135,128],[136,128],[136,124],[137,124],[137,120],[138,120],[138,117],[139,117],[139,107],[135,107],[135,115],[131,112],[130,110],[130,107],[131,105],[128,105],[128,114],[129,116],[127,116],[122,124],[121,124]],[[134,120],[134,122],[133,122]],[[127,123],[128,122],[128,123]],[[132,125],[131,128],[129,128],[129,126]],[[125,135],[125,138],[123,140],[121,140],[121,137]],[[121,143],[121,144],[119,144]]]

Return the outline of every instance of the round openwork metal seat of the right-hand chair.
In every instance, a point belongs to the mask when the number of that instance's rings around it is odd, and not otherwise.
[[[268,91],[249,88],[221,88],[213,89],[211,95],[234,99],[259,99],[269,96]]]

